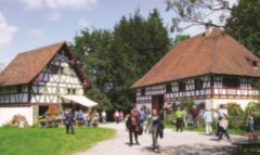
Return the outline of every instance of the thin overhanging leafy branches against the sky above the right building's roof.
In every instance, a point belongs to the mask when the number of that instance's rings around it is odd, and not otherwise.
[[[167,11],[173,11],[176,15],[172,18],[172,31],[181,31],[194,25],[224,27],[232,10],[229,0],[166,0],[166,4]]]

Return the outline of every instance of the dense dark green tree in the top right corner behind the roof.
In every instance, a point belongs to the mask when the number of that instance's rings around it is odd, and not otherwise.
[[[260,1],[240,0],[226,21],[225,30],[253,53],[260,55]]]

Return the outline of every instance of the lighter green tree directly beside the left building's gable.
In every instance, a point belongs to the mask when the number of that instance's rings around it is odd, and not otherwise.
[[[92,88],[87,91],[87,95],[105,109],[113,108],[106,95],[110,77],[107,66],[112,41],[113,35],[108,30],[83,29],[75,37],[75,43],[70,48],[91,82]]]

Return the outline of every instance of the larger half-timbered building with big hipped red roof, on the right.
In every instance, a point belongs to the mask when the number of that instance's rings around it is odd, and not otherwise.
[[[193,100],[206,108],[226,103],[245,108],[259,99],[253,87],[260,77],[259,66],[260,59],[244,46],[210,28],[174,46],[133,83],[136,106],[160,109],[165,103]]]

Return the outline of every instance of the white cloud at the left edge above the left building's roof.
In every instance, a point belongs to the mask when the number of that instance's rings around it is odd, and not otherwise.
[[[14,34],[17,33],[18,27],[10,25],[5,17],[0,12],[0,46],[5,46],[12,42]]]

